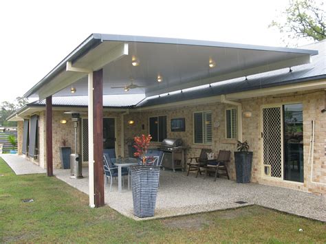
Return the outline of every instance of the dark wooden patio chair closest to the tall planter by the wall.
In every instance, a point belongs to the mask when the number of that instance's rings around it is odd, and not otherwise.
[[[220,150],[216,161],[207,164],[205,170],[205,178],[207,176],[208,171],[213,171],[215,172],[214,181],[216,181],[216,177],[219,177],[220,175],[226,175],[226,177],[230,179],[230,177],[228,176],[228,169],[226,168],[226,163],[230,162],[230,159],[231,159],[231,151]],[[219,170],[222,170],[225,173],[220,174]]]

